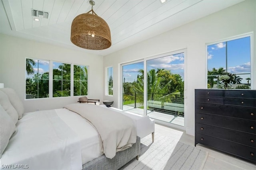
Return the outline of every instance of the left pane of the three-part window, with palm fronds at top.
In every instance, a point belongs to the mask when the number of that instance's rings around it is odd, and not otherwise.
[[[49,61],[26,59],[26,99],[49,97]]]

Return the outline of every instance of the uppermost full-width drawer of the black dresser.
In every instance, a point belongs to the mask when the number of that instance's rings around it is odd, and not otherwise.
[[[256,109],[246,107],[224,106],[218,104],[196,103],[197,113],[209,113],[248,120],[256,120]]]

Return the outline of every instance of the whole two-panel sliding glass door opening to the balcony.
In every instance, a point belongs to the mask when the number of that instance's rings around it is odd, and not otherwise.
[[[122,64],[122,109],[184,126],[184,55]]]

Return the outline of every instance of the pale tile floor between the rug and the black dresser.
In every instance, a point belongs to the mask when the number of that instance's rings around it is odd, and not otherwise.
[[[156,124],[155,133],[172,137],[180,142],[194,146],[194,136],[186,134],[185,131]],[[219,152],[204,145],[198,144],[196,147],[208,152],[208,158],[204,164],[203,170],[256,170],[256,164]]]

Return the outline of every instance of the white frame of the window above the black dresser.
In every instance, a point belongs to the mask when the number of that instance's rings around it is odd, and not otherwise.
[[[254,78],[254,61],[253,61],[253,51],[254,51],[254,35],[253,35],[253,32],[248,32],[248,33],[244,33],[244,34],[240,34],[240,35],[236,35],[236,36],[232,36],[232,37],[229,37],[229,38],[226,38],[226,39],[221,39],[219,41],[214,41],[212,43],[206,43],[205,45],[205,56],[206,56],[206,80],[205,80],[205,88],[208,88],[207,87],[207,84],[208,84],[208,46],[209,45],[214,45],[214,44],[218,44],[218,43],[223,43],[223,42],[226,42],[226,41],[232,41],[232,40],[236,40],[236,39],[240,39],[240,38],[245,38],[245,37],[250,37],[250,75],[251,75],[251,86],[250,86],[250,89],[254,89],[254,81],[253,81],[253,78]],[[225,63],[227,64],[227,63]],[[227,71],[227,70],[226,70]],[[241,74],[238,74],[238,75],[241,75]],[[234,89],[236,90],[236,89]]]

